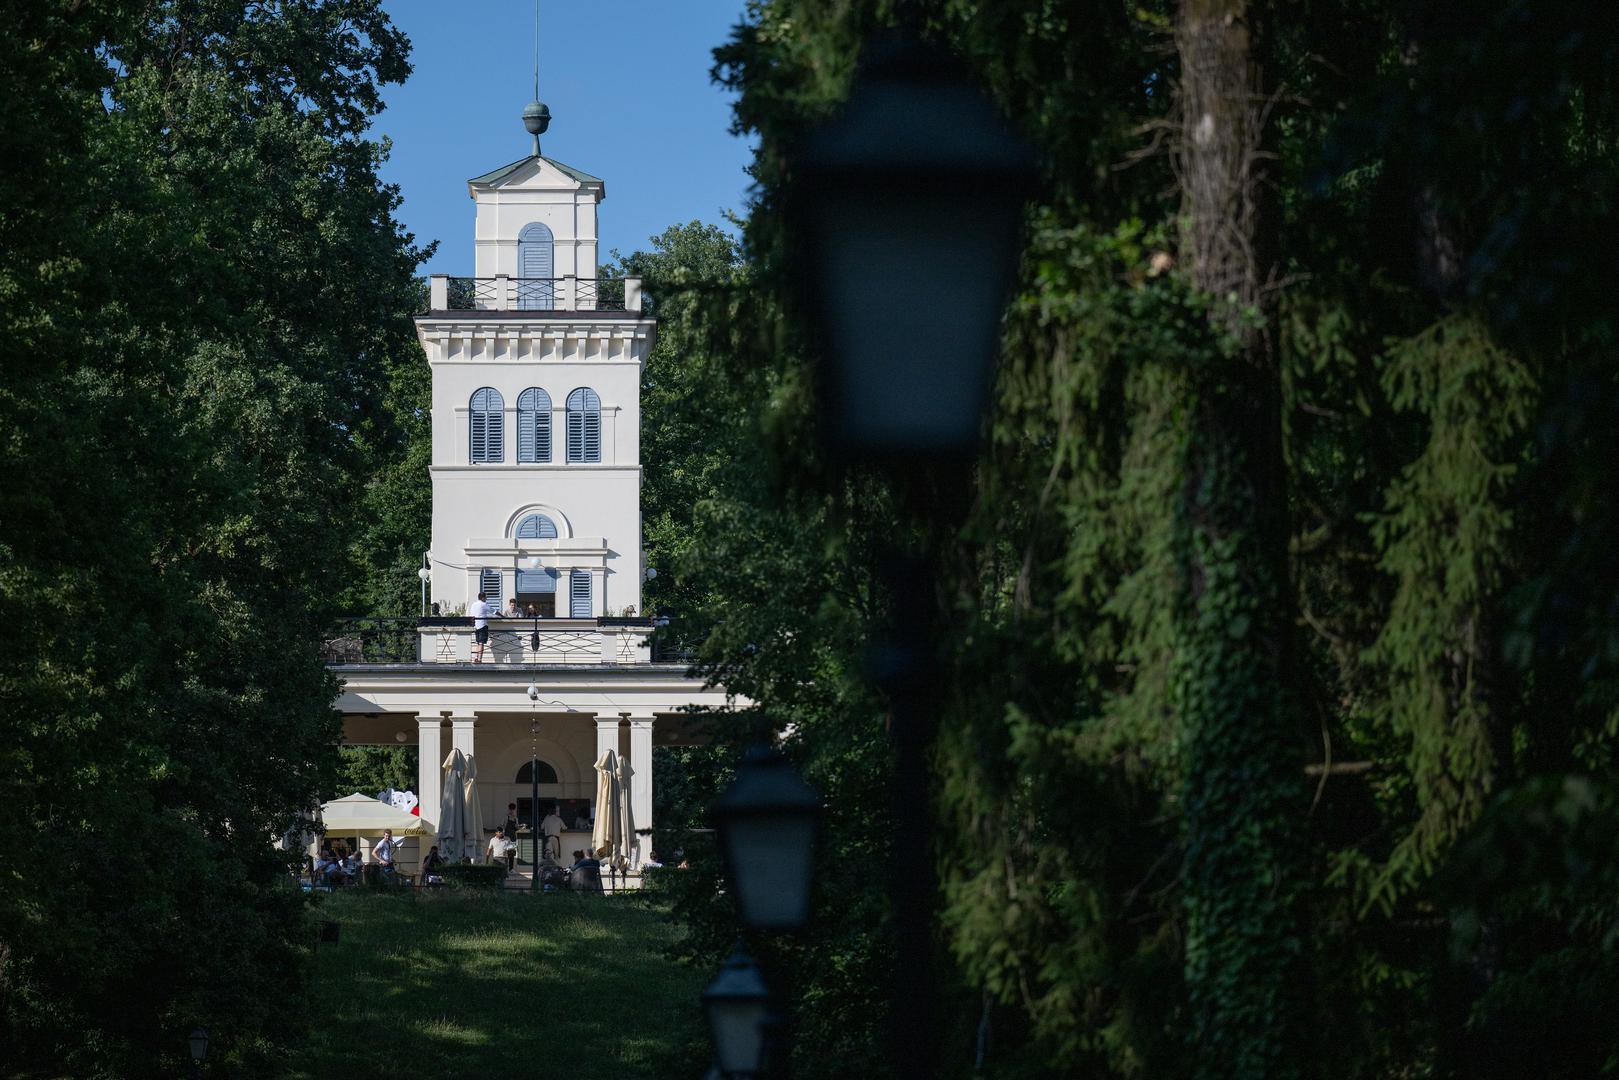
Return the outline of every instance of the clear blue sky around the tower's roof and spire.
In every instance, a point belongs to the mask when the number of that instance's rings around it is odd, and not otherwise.
[[[411,39],[414,74],[387,89],[374,134],[393,139],[384,180],[400,219],[439,253],[423,274],[473,272],[466,180],[528,154],[533,0],[385,0]],[[546,157],[607,181],[601,253],[644,248],[677,222],[742,210],[750,146],[730,134],[732,96],[709,81],[711,50],[743,0],[542,0],[539,97]]]

